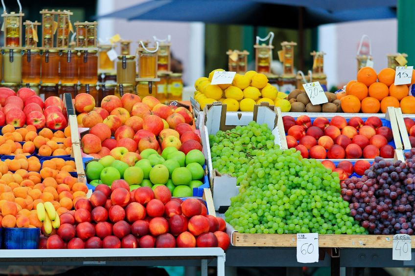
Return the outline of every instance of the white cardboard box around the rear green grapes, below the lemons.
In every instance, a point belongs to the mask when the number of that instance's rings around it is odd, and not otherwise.
[[[275,135],[274,143],[281,145],[280,133],[284,131],[284,128],[282,127],[281,119],[278,119],[277,110],[279,110],[279,107],[269,106],[268,103],[254,106],[254,112],[227,112],[226,105],[222,105],[221,103],[213,103],[205,107],[203,112],[204,123],[203,125],[201,124],[200,131],[203,151],[208,165],[210,189],[213,193],[215,210],[219,210],[221,206],[229,206],[231,204],[231,197],[238,193],[239,187],[236,185],[236,177],[221,174],[219,171],[213,169],[209,134],[215,134],[219,130],[232,129],[236,126],[247,126],[251,121],[255,121],[258,124],[267,124]]]

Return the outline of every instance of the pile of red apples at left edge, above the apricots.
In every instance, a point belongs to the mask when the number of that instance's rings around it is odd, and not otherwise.
[[[0,126],[63,129],[67,119],[64,103],[59,97],[48,97],[44,102],[30,88],[20,88],[16,93],[0,87]]]

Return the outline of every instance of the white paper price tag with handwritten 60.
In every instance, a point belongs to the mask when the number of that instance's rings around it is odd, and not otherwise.
[[[319,234],[297,234],[297,261],[315,263],[319,261]]]

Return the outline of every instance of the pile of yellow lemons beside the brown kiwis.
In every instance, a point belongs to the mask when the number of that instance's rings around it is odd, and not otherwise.
[[[215,71],[225,70],[213,70],[208,78],[202,77],[195,82],[194,99],[202,109],[213,102],[222,102],[228,111],[254,111],[254,105],[267,102],[279,106],[282,112],[290,111],[287,95],[270,85],[264,74],[248,71],[245,75],[235,74],[231,85],[211,85]]]

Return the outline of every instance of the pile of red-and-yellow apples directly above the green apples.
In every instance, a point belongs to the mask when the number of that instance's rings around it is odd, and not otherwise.
[[[95,158],[110,155],[119,147],[137,155],[144,149],[161,153],[166,147],[185,154],[202,150],[200,137],[190,125],[192,113],[184,107],[163,105],[152,96],[141,100],[130,93],[121,99],[110,95],[102,99],[101,107],[95,107],[93,97],[82,93],[75,97],[75,109],[79,126],[90,127],[82,138],[82,149]],[[138,161],[139,155],[136,157]]]

